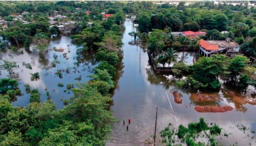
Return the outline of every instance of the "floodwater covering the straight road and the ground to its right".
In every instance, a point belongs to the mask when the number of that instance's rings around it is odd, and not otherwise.
[[[254,136],[250,132],[255,129],[255,105],[248,102],[235,100],[227,95],[225,90],[207,91],[217,94],[220,99],[217,102],[195,103],[191,101],[191,92],[179,89],[175,85],[176,79],[170,74],[157,74],[153,71],[148,61],[147,52],[130,43],[133,37],[128,33],[133,31],[133,25],[129,20],[125,22],[123,34],[123,59],[121,77],[118,77],[116,89],[113,92],[114,116],[120,120],[114,123],[112,139],[107,145],[152,145],[151,141],[155,131],[156,108],[157,117],[157,145],[160,144],[158,134],[169,123],[174,126],[187,125],[189,122],[198,122],[200,117],[206,122],[217,123],[223,128],[225,136],[217,136],[222,145],[256,145]],[[184,63],[193,64],[195,54],[193,52],[178,52],[178,56],[184,59]],[[253,90],[252,87],[249,90]],[[183,103],[176,104],[172,92],[178,91],[182,94]],[[246,98],[247,94],[245,95]],[[170,101],[169,101],[170,100]],[[234,109],[226,113],[198,113],[194,109],[196,105],[230,105]],[[131,123],[128,123],[129,118]],[[125,125],[123,125],[125,120]],[[237,125],[244,125],[249,130],[241,131]],[[129,129],[126,129],[129,126]],[[153,138],[152,138],[153,139]],[[152,141],[151,141],[152,142]],[[237,142],[237,143],[236,143]],[[147,143],[147,144],[145,144]]]

